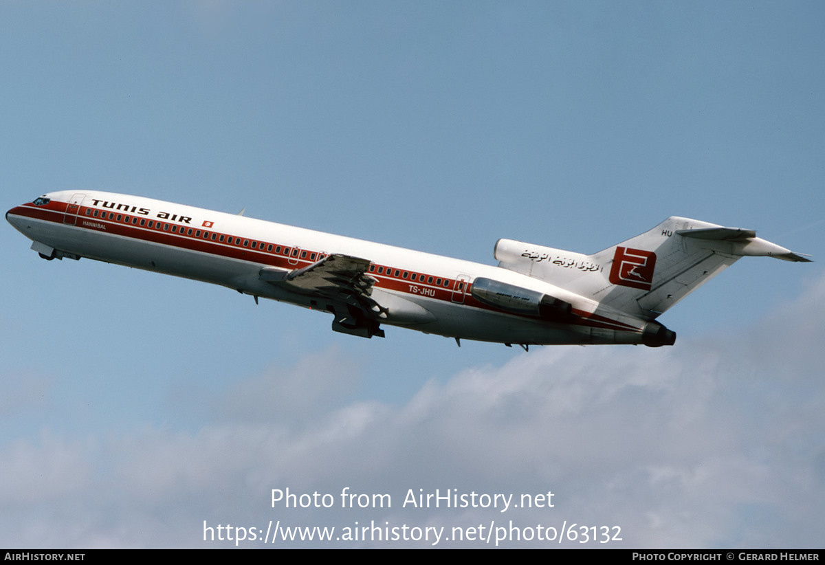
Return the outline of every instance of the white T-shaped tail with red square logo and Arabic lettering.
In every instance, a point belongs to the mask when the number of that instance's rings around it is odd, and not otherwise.
[[[810,261],[753,230],[675,216],[593,255],[511,240],[496,245],[499,266],[645,319],[657,318],[745,256]]]

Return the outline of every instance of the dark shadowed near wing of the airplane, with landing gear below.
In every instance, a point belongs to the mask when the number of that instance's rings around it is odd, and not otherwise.
[[[384,337],[378,326],[387,317],[387,310],[371,296],[375,279],[367,275],[369,269],[370,261],[366,259],[335,253],[295,271],[264,267],[259,278],[330,301],[335,314],[332,329],[337,332]]]

